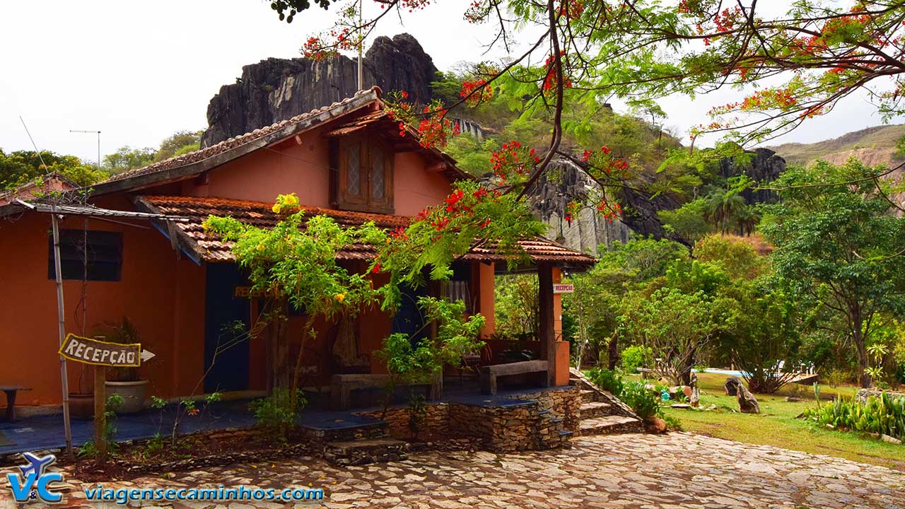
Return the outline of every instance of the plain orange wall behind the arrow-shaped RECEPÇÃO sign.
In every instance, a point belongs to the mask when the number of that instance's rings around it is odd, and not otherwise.
[[[100,206],[129,209],[124,198],[104,200]],[[147,222],[134,221],[139,226]],[[67,217],[63,228],[81,228],[82,220]],[[123,264],[119,282],[87,286],[86,332],[97,324],[128,316],[142,335],[143,346],[157,354],[141,369],[151,380],[148,393],[170,397],[187,394],[201,376],[204,356],[205,270],[189,260],[176,260],[169,241],[156,229],[90,220],[89,228],[123,234]],[[0,305],[2,360],[0,384],[23,385],[24,405],[59,404],[56,285],[47,277],[50,216],[25,214],[0,225]],[[81,333],[81,281],[64,280],[65,328]],[[78,317],[78,322],[77,322]],[[68,362],[71,391],[80,387],[81,366]],[[85,369],[81,387],[90,389],[91,370]]]

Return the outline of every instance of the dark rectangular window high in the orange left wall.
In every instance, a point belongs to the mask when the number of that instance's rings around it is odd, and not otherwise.
[[[47,277],[55,279],[53,235],[48,237],[47,245]],[[84,263],[86,257],[87,267]],[[60,230],[60,266],[63,279],[82,279],[87,268],[89,281],[119,281],[122,272],[122,234],[94,230],[88,232]]]

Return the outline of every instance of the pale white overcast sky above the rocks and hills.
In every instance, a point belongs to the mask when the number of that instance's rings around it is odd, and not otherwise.
[[[242,66],[267,57],[299,56],[303,38],[331,23],[315,7],[280,23],[265,0],[4,2],[0,6],[0,148],[31,149],[20,115],[40,149],[97,158],[123,146],[157,147],[175,130],[204,129],[207,103],[235,81]],[[464,2],[440,0],[405,24],[387,16],[378,34],[413,34],[447,70],[480,61],[492,33],[462,20]],[[368,9],[378,10],[366,2]],[[501,53],[491,53],[500,57]],[[686,134],[709,121],[714,104],[735,101],[720,91],[697,101],[663,101],[668,125]],[[618,110],[618,106],[617,106]],[[811,120],[782,141],[811,142],[881,123],[864,98]],[[687,136],[684,136],[687,139]]]

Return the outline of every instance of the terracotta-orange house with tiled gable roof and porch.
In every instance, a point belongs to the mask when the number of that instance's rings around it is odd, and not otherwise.
[[[229,247],[205,235],[201,224],[207,216],[272,225],[277,220],[271,212],[274,198],[294,192],[312,215],[326,214],[347,225],[374,221],[405,226],[424,206],[441,203],[452,183],[462,178],[469,177],[452,158],[422,147],[414,132],[399,135],[376,88],[119,174],[93,187],[91,205],[187,220],[63,217],[66,331],[91,334],[99,324],[128,317],[143,347],[157,354],[141,367],[142,378],[150,380],[148,393],[164,398],[190,395],[223,341],[224,325],[251,323],[258,306]],[[5,289],[0,385],[31,387],[20,394],[21,405],[60,405],[50,218],[16,202],[0,206],[0,215],[0,281]],[[83,284],[81,239],[86,237],[88,281]],[[540,278],[541,331],[539,338],[522,346],[548,361],[549,383],[566,385],[568,343],[557,341],[560,309],[552,285],[562,268],[586,267],[594,259],[545,238],[525,239],[523,245],[532,261],[526,270],[538,271]],[[367,267],[369,256],[355,249],[341,255],[360,270]],[[445,286],[487,317],[483,335],[489,348],[483,352],[483,364],[500,362],[499,353],[506,348],[490,340],[494,274],[505,269],[502,261],[492,249],[474,250],[455,267],[455,281]],[[385,373],[373,351],[392,331],[405,330],[400,316],[405,312],[364,312],[353,324],[357,343],[344,349],[334,344],[337,324],[320,324],[318,340],[305,355],[310,365],[306,383],[329,386],[338,374]],[[291,322],[297,326],[301,317]],[[265,389],[262,341],[243,341],[220,353],[204,379],[205,392]],[[82,373],[81,366],[73,364],[71,389],[87,389],[90,372]]]

